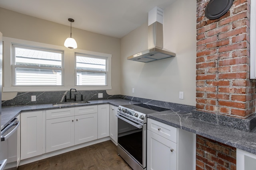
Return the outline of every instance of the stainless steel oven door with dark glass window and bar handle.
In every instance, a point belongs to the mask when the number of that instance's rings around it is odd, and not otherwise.
[[[144,169],[146,167],[146,124],[132,121],[129,117],[120,114],[116,116],[118,117],[118,146]],[[129,164],[129,161],[126,160],[126,162]]]

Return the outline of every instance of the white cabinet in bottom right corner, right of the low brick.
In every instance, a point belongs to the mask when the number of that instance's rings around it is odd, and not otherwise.
[[[256,155],[241,149],[236,149],[236,169],[255,170]]]

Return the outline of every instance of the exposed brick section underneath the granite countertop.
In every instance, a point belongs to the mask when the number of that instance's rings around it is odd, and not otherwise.
[[[236,170],[236,148],[197,135],[196,170]]]

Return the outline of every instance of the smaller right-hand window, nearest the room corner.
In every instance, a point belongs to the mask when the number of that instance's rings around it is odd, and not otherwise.
[[[108,58],[75,53],[76,85],[106,86],[108,77]]]

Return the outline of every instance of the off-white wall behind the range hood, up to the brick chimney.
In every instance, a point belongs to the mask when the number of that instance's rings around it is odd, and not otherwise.
[[[164,9],[164,49],[176,57],[128,61],[148,48],[147,28],[145,23],[121,39],[121,94],[196,106],[196,0],[176,0]]]

